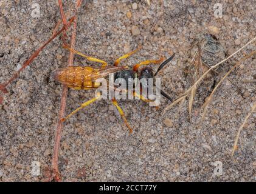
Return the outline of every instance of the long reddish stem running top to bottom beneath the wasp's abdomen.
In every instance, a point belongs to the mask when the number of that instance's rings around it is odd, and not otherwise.
[[[77,1],[77,8],[80,7],[80,5],[81,5],[81,0]],[[63,24],[64,24],[64,21],[63,21]],[[72,49],[74,49],[74,47],[75,47],[76,30],[77,30],[77,16],[76,16],[76,12],[75,12],[74,26],[73,26],[72,36],[71,36],[71,48]],[[68,66],[72,66],[73,61],[74,61],[74,53],[70,52]],[[54,171],[53,176],[54,176],[55,181],[61,181],[61,176],[58,171],[58,151],[60,149],[61,131],[63,128],[63,122],[61,121],[61,118],[64,117],[64,112],[65,112],[65,108],[66,108],[67,90],[68,89],[67,89],[66,85],[63,85],[63,92],[62,92],[61,101],[60,101],[60,112],[58,114],[58,124],[57,124],[57,129],[56,129],[56,134],[55,134],[54,155],[52,157],[52,169]]]

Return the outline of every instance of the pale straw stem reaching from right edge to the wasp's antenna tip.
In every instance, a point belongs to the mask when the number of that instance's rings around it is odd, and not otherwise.
[[[243,47],[241,47],[240,49],[238,49],[236,52],[232,53],[232,55],[229,55],[226,59],[224,59],[223,61],[218,62],[216,65],[213,65],[210,69],[208,69],[206,72],[204,72],[204,74],[195,82],[195,84],[192,85],[192,87],[190,87],[185,93],[183,93],[179,98],[183,98],[183,97],[187,97],[189,95],[190,92],[193,92],[193,90],[196,89],[197,85],[199,84],[199,82],[202,81],[202,79],[204,79],[204,77],[213,69],[215,69],[216,67],[218,67],[220,64],[222,64],[223,62],[227,61],[227,59],[232,58],[232,56],[234,56],[235,54],[237,54],[238,52],[240,52],[241,50],[243,50],[247,45],[251,44],[252,42],[254,42],[256,40],[256,37],[254,37],[253,39],[251,39],[251,41],[247,42],[245,45],[243,45]],[[173,107],[173,105],[177,104],[179,100],[176,99],[173,103],[171,103],[170,105],[168,105],[167,107],[165,107],[164,109],[164,113],[169,109],[171,109],[171,107]]]

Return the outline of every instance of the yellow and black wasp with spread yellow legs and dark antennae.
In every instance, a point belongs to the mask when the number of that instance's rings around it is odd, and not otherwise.
[[[147,60],[142,61],[136,65],[133,66],[133,69],[129,69],[126,65],[119,65],[120,61],[122,59],[128,58],[129,56],[136,53],[139,49],[134,50],[133,52],[127,53],[126,55],[121,56],[118,58],[113,66],[108,66],[107,62],[102,61],[101,59],[93,58],[91,56],[86,56],[83,53],[78,52],[77,50],[71,49],[67,45],[63,46],[64,49],[68,49],[71,52],[82,56],[83,58],[88,59],[88,61],[93,62],[99,62],[101,67],[89,67],[89,66],[71,66],[71,67],[64,67],[61,69],[57,69],[54,72],[52,72],[52,78],[54,78],[56,81],[60,82],[61,84],[66,85],[69,88],[77,89],[77,90],[91,90],[91,89],[97,89],[100,87],[100,83],[96,80],[98,78],[106,78],[106,76],[109,76],[111,73],[114,73],[114,80],[122,78],[128,81],[129,78],[154,78],[157,73],[168,64],[168,62],[173,59],[175,54],[173,54],[170,58],[164,61],[163,58],[159,60]],[[164,61],[164,62],[162,62]],[[161,64],[162,62],[162,64]],[[148,67],[149,64],[161,64],[159,65],[156,73],[153,73],[153,70],[151,67]],[[143,69],[139,71],[139,67],[145,65]],[[146,85],[145,85],[146,84]],[[141,87],[147,87],[147,83],[144,83],[141,85]],[[116,89],[116,88],[115,88]],[[144,99],[142,95],[137,94],[136,92],[133,92],[134,96],[139,96],[139,99],[142,99],[143,101],[150,101],[148,99]],[[171,100],[170,96],[168,96],[164,91],[161,90],[161,95],[163,95],[165,98]],[[99,100],[101,97],[100,93],[96,93],[95,98],[90,99],[89,101],[84,102],[80,105],[77,109],[75,109],[73,112],[71,112],[69,115],[66,116],[66,118],[62,118],[61,121],[65,121],[70,116],[77,113],[79,110],[85,108],[89,104],[92,104],[93,102]],[[130,124],[128,123],[127,119],[125,118],[125,113],[123,112],[122,108],[117,103],[117,100],[114,98],[111,100],[112,104],[117,108],[119,111],[123,121],[125,122],[126,126],[130,130],[130,133],[133,132],[133,129],[130,127]]]

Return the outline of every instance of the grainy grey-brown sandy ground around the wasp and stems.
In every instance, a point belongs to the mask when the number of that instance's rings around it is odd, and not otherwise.
[[[32,17],[35,2],[40,5],[39,18]],[[63,2],[67,11],[73,1]],[[137,6],[132,6],[134,2]],[[190,84],[184,67],[199,33],[215,34],[227,55],[255,37],[255,1],[222,1],[222,18],[214,16],[214,5],[187,0],[152,0],[151,6],[145,1],[84,1],[78,12],[76,48],[112,64],[141,44],[140,52],[122,62],[130,66],[175,52],[175,59],[159,73],[162,89],[175,98]],[[0,1],[0,82],[50,37],[59,19],[57,1]],[[252,50],[255,43],[227,65]],[[62,91],[62,85],[49,75],[67,65],[68,53],[55,39],[9,85],[0,105],[0,181],[45,178]],[[255,114],[240,135],[237,152],[230,156],[238,127],[256,101],[255,82],[241,82],[256,79],[255,62],[255,57],[248,59],[229,76],[235,86],[229,81],[221,85],[199,127],[206,90],[196,95],[192,123],[187,104],[179,113],[174,107],[162,116],[170,104],[164,98],[159,109],[142,101],[120,101],[134,128],[132,135],[111,101],[96,102],[72,116],[61,138],[63,181],[255,181]],[[80,56],[75,56],[75,64],[95,65]],[[69,90],[66,113],[92,96],[92,91]],[[39,176],[31,173],[33,161],[40,163]]]

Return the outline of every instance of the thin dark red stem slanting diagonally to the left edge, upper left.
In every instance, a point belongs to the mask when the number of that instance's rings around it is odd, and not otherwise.
[[[9,79],[9,81],[4,82],[3,84],[0,84],[0,90],[3,93],[7,93],[7,85],[9,85],[11,82],[13,82],[16,78],[18,78],[19,73],[22,72],[22,70],[24,70],[28,65],[31,64],[31,62],[36,58],[36,56],[38,56],[41,52],[41,50],[44,49],[44,47],[46,47],[47,44],[49,44],[53,39],[55,39],[58,35],[60,35],[60,33],[62,33],[66,28],[70,27],[70,25],[72,24],[72,22],[74,21],[74,16],[69,19],[69,22],[67,23],[66,27],[63,26],[63,28],[61,28],[61,30],[59,30],[57,33],[54,33],[54,35],[52,35],[52,37],[50,39],[48,39],[46,42],[44,42],[44,44],[37,49],[30,57],[29,59],[27,59],[27,61],[25,61],[22,64],[22,67],[14,73],[14,75],[12,76],[12,78]],[[0,104],[2,103],[2,96],[0,96]]]

